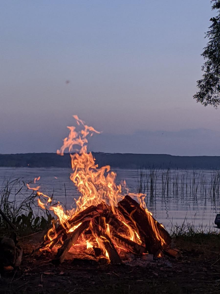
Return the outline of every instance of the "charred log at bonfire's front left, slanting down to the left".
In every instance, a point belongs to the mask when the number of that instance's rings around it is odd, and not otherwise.
[[[53,260],[53,263],[59,265],[65,259],[66,253],[70,250],[72,245],[77,241],[79,236],[89,227],[89,221],[85,221],[73,232],[67,235],[67,239],[64,241],[63,245],[57,250],[57,255]]]

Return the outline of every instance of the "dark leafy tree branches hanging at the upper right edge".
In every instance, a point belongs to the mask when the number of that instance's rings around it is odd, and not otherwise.
[[[197,81],[199,91],[193,98],[204,106],[217,108],[220,104],[220,0],[211,0],[211,3],[212,10],[217,10],[218,15],[210,19],[212,24],[205,34],[209,41],[201,54],[205,60],[202,66],[204,74]]]

